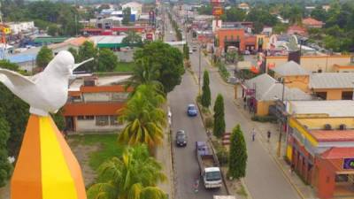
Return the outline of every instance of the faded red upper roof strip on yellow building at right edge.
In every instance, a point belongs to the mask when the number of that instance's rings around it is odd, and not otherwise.
[[[310,133],[318,142],[354,141],[354,130],[312,130]]]

